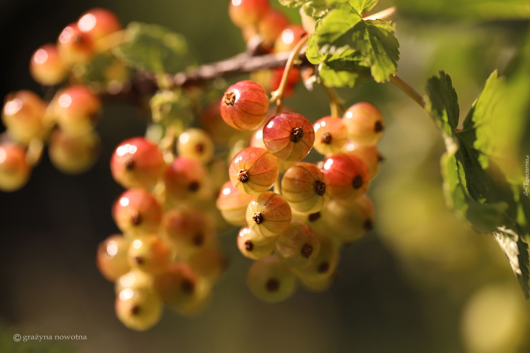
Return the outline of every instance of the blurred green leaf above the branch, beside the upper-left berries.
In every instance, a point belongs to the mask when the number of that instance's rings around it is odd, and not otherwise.
[[[195,64],[184,37],[163,26],[131,22],[127,26],[127,39],[114,47],[113,53],[133,68],[176,74]]]

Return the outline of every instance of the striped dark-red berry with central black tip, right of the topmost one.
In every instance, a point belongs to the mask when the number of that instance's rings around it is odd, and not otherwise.
[[[295,162],[311,151],[315,131],[303,115],[281,113],[271,117],[263,127],[263,142],[275,157]]]

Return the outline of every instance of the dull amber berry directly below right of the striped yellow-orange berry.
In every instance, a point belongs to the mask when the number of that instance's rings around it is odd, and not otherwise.
[[[287,266],[302,268],[313,263],[320,252],[315,231],[305,223],[293,222],[276,238],[276,256]]]

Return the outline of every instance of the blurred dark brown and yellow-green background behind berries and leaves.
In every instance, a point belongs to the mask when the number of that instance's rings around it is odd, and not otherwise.
[[[276,0],[273,5],[280,7]],[[381,1],[398,6],[399,75],[423,94],[444,69],[453,78],[463,117],[491,71],[510,74],[527,40],[524,1]],[[54,42],[65,25],[94,6],[122,23],[143,21],[184,34],[200,63],[244,50],[226,0],[0,2],[5,95],[29,88],[34,49]],[[296,10],[291,20],[299,21]],[[108,161],[146,122],[126,105],[107,105],[98,125],[103,151],[80,176],[61,174],[45,155],[21,191],[0,193],[0,351],[77,352],[470,352],[530,351],[530,305],[491,236],[475,233],[445,207],[439,158],[444,144],[425,112],[391,83],[340,89],[349,106],[370,101],[385,114],[380,148],[386,161],[368,194],[375,230],[342,250],[328,291],[263,303],[246,287],[251,261],[223,246],[231,266],[209,308],[197,318],[166,309],[147,332],[126,329],[113,310],[113,284],[98,273],[98,243],[117,232],[110,207],[121,188]],[[529,97],[520,97],[527,99]],[[329,114],[320,87],[302,85],[286,105],[315,121]],[[530,139],[526,139],[530,141]],[[528,143],[528,142],[527,142]],[[524,151],[523,151],[524,152]],[[530,153],[530,150],[523,154]],[[86,340],[14,342],[13,334],[81,334]]]

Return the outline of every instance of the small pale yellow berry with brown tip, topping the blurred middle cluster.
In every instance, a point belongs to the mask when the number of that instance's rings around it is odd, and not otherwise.
[[[180,134],[176,151],[180,157],[195,158],[207,164],[214,156],[214,142],[204,130],[187,129]]]

